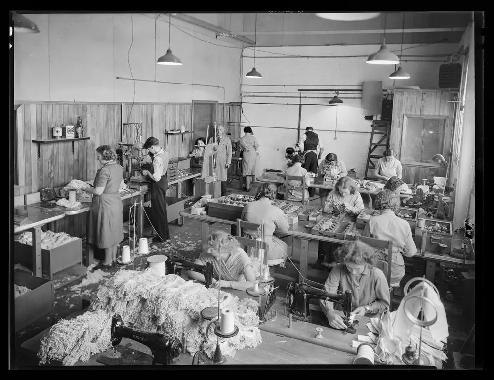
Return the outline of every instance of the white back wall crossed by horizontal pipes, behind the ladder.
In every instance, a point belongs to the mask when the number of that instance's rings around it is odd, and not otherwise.
[[[404,54],[454,54],[458,51],[457,44],[436,44],[422,47],[404,45]],[[296,140],[298,127],[298,91],[299,88],[318,88],[314,85],[327,85],[326,88],[361,89],[360,85],[365,81],[382,81],[383,88],[395,86],[418,86],[421,89],[437,88],[439,78],[438,62],[406,62],[403,68],[410,73],[409,80],[390,80],[389,74],[395,69],[394,66],[369,65],[366,58],[377,51],[379,46],[313,46],[313,47],[262,47],[263,51],[302,55],[302,56],[353,56],[363,57],[348,58],[262,58],[265,56],[280,54],[269,54],[258,51],[256,53],[255,66],[262,74],[262,79],[245,78],[245,74],[252,69],[253,52],[246,49],[242,60],[242,101],[244,114],[243,126],[248,125],[247,119],[260,143],[260,154],[264,165],[272,169],[283,169],[286,164],[285,149],[293,147]],[[390,45],[391,51],[400,49],[399,45]],[[410,58],[417,59],[417,58]],[[431,60],[432,58],[425,58]],[[251,84],[262,84],[269,86],[251,86]],[[292,87],[277,87],[272,85],[295,85]],[[319,87],[322,88],[322,87]],[[293,92],[291,94],[269,93],[259,94],[253,91]],[[254,98],[247,95],[255,95]],[[262,97],[265,95],[294,96],[293,98]],[[317,96],[314,93],[305,92],[305,96]],[[334,93],[319,94],[320,96],[332,97]],[[362,93],[346,92],[340,93],[344,103],[337,107],[328,107],[328,99],[302,99],[302,103],[321,104],[325,106],[302,106],[301,129],[312,126],[322,139],[325,150],[324,155],[329,152],[336,153],[348,169],[356,168],[357,175],[363,176],[367,152],[369,149],[371,121],[364,120],[367,114],[362,109]],[[359,99],[345,99],[345,98]],[[258,105],[255,103],[280,103],[280,105]],[[293,103],[294,105],[287,105]],[[336,128],[336,110],[338,111],[337,139],[334,139]],[[379,115],[380,117],[380,115]],[[273,129],[266,127],[280,127]],[[348,131],[348,132],[343,132]],[[368,133],[359,133],[368,132]]]

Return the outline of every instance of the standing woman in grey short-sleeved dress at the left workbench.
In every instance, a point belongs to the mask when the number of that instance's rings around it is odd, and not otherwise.
[[[94,188],[85,190],[93,195],[87,217],[87,243],[104,249],[105,259],[93,268],[93,272],[113,266],[117,247],[124,240],[124,214],[119,193],[124,169],[115,161],[117,154],[110,145],[98,147],[96,154],[103,166],[96,172]]]

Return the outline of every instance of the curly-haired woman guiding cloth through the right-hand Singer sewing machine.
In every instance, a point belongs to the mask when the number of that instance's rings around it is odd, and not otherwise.
[[[352,312],[373,317],[389,307],[389,288],[386,276],[376,262],[375,250],[360,241],[346,243],[334,252],[338,264],[329,273],[324,290],[340,294],[352,292]],[[329,326],[346,329],[342,317],[334,309],[341,310],[339,303],[319,301],[321,311],[328,318]]]

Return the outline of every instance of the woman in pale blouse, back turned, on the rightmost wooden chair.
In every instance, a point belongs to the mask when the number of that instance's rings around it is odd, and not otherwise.
[[[391,286],[393,287],[399,287],[400,280],[405,276],[403,256],[413,257],[417,253],[410,224],[396,216],[394,212],[399,205],[398,195],[391,190],[381,190],[375,197],[375,208],[381,210],[381,214],[372,217],[362,233],[362,236],[393,241],[391,263]]]

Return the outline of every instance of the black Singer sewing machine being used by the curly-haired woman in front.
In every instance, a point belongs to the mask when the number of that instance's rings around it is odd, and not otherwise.
[[[315,288],[305,283],[295,284],[290,282],[287,287],[290,296],[290,313],[300,320],[307,321],[310,316],[309,299],[322,299],[323,301],[336,302],[343,307],[343,322],[348,326],[347,333],[354,334],[358,321],[350,322],[352,313],[352,292],[346,290],[343,294],[332,294]]]

